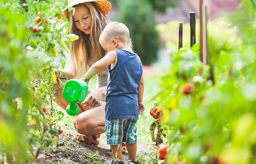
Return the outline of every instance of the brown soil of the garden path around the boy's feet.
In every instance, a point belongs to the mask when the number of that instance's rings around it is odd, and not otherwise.
[[[106,144],[105,134],[99,138],[98,146],[75,141],[73,134],[61,134],[57,146],[39,154],[33,164],[102,164],[113,159],[110,146]],[[153,146],[138,143],[137,156],[148,153]],[[128,160],[128,153],[123,153],[123,160]]]

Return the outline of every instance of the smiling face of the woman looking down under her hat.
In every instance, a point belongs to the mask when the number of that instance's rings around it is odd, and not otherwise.
[[[78,6],[77,8],[75,8],[73,21],[75,22],[75,26],[79,30],[81,30],[85,34],[90,34],[91,26],[92,26],[92,17],[87,7]]]

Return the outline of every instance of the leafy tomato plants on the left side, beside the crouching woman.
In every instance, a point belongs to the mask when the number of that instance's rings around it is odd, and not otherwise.
[[[56,18],[62,8],[56,0],[1,1],[0,163],[6,157],[8,163],[25,164],[57,144],[56,121],[63,113],[53,101],[62,84],[52,68],[65,63],[53,57],[69,47],[67,22]]]

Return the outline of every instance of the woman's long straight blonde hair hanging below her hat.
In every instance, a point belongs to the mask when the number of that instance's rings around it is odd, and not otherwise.
[[[99,36],[104,27],[108,24],[108,18],[102,13],[95,2],[85,2],[73,7],[85,6],[89,9],[92,17],[90,34],[81,32],[73,21],[72,11],[67,15],[69,20],[69,34],[76,34],[79,39],[70,42],[71,44],[71,68],[75,78],[82,75],[88,68],[89,55],[93,61],[98,61],[105,56],[105,50],[99,44]]]

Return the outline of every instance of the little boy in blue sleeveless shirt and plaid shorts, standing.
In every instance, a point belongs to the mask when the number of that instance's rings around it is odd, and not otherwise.
[[[104,164],[124,163],[121,161],[122,142],[126,143],[129,160],[139,164],[136,160],[136,124],[139,114],[145,110],[142,103],[144,82],[141,59],[132,51],[129,29],[122,23],[108,24],[99,42],[108,54],[94,63],[81,79],[88,83],[92,76],[108,66],[105,130],[107,143],[114,157],[117,153],[120,160],[113,159]]]

